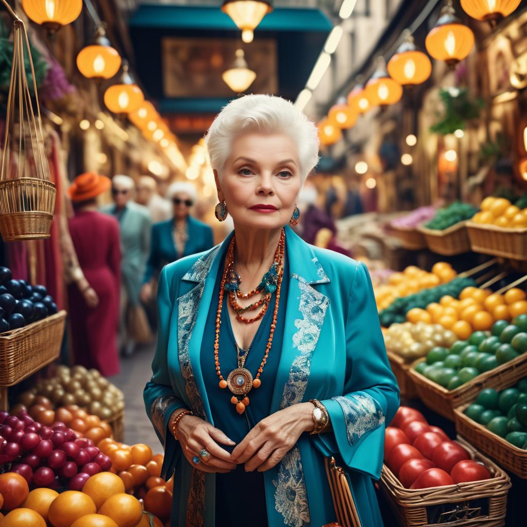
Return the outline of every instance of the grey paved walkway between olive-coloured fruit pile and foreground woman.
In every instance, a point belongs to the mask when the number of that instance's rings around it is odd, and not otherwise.
[[[121,373],[110,378],[124,392],[124,442],[146,443],[154,452],[162,452],[161,444],[144,411],[143,387],[152,375],[155,343],[138,348],[131,357],[121,357]]]

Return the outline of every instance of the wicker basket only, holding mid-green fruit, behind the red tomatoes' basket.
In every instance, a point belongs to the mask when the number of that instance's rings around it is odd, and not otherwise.
[[[434,412],[454,421],[454,408],[473,401],[482,388],[510,386],[527,376],[527,353],[484,372],[454,390],[447,390],[414,369],[408,370],[419,398]]]

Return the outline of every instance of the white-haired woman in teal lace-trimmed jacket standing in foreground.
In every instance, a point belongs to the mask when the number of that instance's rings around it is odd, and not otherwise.
[[[164,267],[147,412],[175,471],[171,525],[336,520],[325,472],[349,475],[364,527],[398,406],[368,271],[289,227],[317,163],[315,125],[269,95],[229,103],[208,132],[221,245]]]

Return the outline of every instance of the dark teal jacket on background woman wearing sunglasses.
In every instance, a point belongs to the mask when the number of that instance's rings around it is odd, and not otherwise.
[[[177,260],[183,256],[196,254],[210,249],[213,245],[212,229],[202,221],[192,216],[187,218],[187,236],[185,248],[182,255],[175,252],[173,231],[174,220],[161,221],[152,225],[152,238],[150,242],[150,256],[147,262],[147,270],[143,282],[148,282],[165,264]]]

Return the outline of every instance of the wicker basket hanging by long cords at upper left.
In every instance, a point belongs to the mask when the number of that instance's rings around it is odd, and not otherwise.
[[[24,23],[11,8],[8,11],[15,22],[0,172],[0,233],[4,241],[49,238],[56,187],[50,181],[44,148],[35,70]],[[27,84],[24,53],[31,66],[33,93]]]

